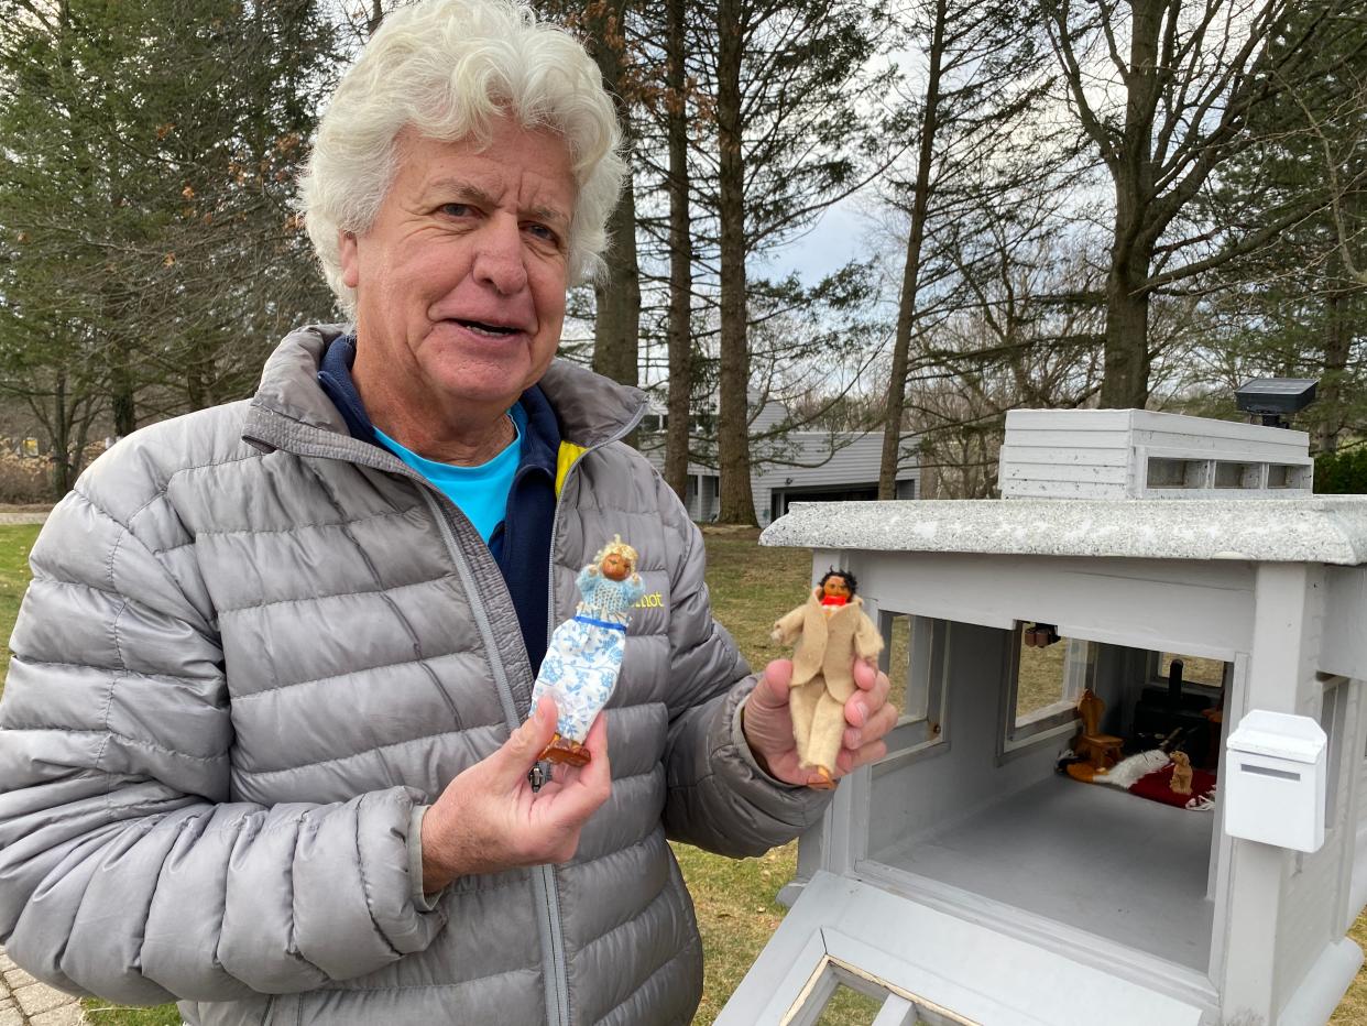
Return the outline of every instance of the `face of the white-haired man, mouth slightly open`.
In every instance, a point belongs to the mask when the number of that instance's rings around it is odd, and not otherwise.
[[[396,146],[370,230],[342,235],[343,280],[357,290],[357,384],[368,408],[496,420],[560,341],[569,149],[509,118],[485,146],[411,130]]]

